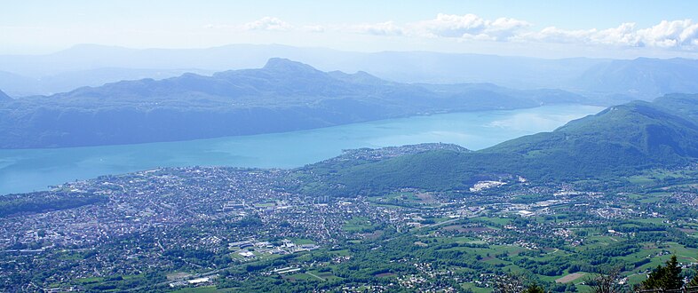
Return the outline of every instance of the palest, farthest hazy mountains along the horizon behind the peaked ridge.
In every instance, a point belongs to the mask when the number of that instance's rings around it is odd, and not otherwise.
[[[146,50],[78,45],[47,55],[4,55],[0,56],[0,89],[15,98],[52,94],[121,80],[261,67],[274,57],[313,64],[324,71],[365,71],[399,83],[495,83],[514,89],[561,89],[607,101],[607,105],[672,92],[698,92],[693,82],[698,60],[694,59],[535,59],[251,44]]]

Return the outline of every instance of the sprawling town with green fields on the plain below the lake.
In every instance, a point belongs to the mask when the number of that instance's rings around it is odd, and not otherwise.
[[[345,158],[385,155],[400,152],[364,150],[347,152]],[[686,267],[698,256],[698,217],[672,214],[694,210],[698,194],[691,185],[664,186],[661,193],[639,196],[642,188],[604,192],[588,184],[514,178],[480,181],[463,191],[403,188],[336,197],[298,192],[302,179],[295,172],[170,168],[55,186],[43,193],[97,194],[107,200],[0,218],[3,286],[124,289],[113,284],[133,278],[138,282],[123,286],[178,289],[234,282],[240,287],[262,276],[338,284],[353,280],[340,273],[342,265],[366,254],[353,245],[381,251],[405,239],[413,239],[408,242],[414,251],[462,249],[464,264],[394,257],[386,267],[411,268],[386,268],[371,274],[378,281],[354,278],[351,286],[343,286],[417,288],[417,283],[448,275],[451,281],[430,288],[492,289],[498,273],[518,267],[534,269],[564,291],[575,290],[575,282],[583,281],[579,272],[589,272],[593,260],[575,267],[556,262],[589,257],[590,249],[623,249],[601,256],[623,257],[636,279],[677,250]]]

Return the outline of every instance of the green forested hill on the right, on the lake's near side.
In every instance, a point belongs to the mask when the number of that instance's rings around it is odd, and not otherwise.
[[[404,187],[467,190],[480,180],[604,179],[698,160],[698,95],[609,107],[556,131],[512,139],[477,152],[453,147],[388,159],[319,162],[305,167],[329,194]],[[316,178],[320,177],[320,178]]]

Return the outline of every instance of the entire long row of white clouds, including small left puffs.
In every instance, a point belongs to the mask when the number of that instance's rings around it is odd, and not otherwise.
[[[589,28],[570,30],[547,27],[532,29],[526,20],[498,18],[483,19],[475,14],[440,13],[432,20],[408,23],[385,21],[348,25],[293,26],[275,17],[267,16],[243,24],[242,30],[303,31],[313,33],[343,32],[372,36],[403,36],[443,38],[458,41],[491,41],[538,44],[583,44],[621,47],[653,47],[662,49],[698,50],[698,23],[693,20],[662,20],[650,28],[639,28],[636,23],[622,23],[616,28]]]

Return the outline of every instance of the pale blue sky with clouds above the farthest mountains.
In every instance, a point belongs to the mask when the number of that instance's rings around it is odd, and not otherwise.
[[[7,1],[0,54],[75,44],[698,58],[698,1]]]

